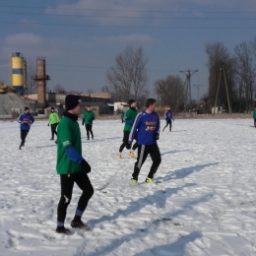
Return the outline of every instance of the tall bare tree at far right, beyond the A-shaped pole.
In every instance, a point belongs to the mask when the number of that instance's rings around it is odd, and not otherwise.
[[[241,42],[234,47],[235,73],[238,82],[239,110],[241,110],[242,98],[245,98],[245,110],[253,105],[255,92],[255,72],[253,67],[252,47],[247,42]]]

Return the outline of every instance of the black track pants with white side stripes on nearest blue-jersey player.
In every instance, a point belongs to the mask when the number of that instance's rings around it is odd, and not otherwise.
[[[154,145],[139,145],[138,146],[138,158],[134,164],[133,178],[138,179],[141,167],[144,161],[147,159],[150,154],[151,159],[153,160],[150,172],[148,174],[149,178],[154,178],[154,174],[157,172],[160,166],[160,149],[158,144]]]

